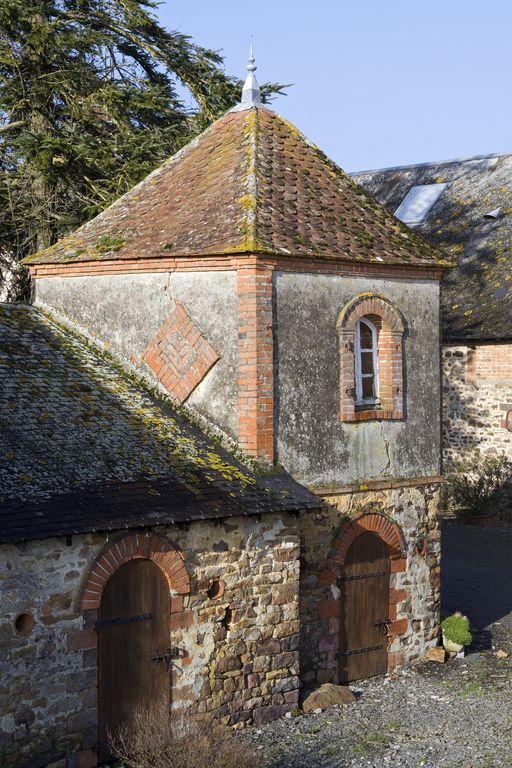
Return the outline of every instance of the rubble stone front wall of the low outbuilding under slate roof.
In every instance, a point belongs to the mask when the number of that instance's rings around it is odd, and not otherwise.
[[[182,551],[191,585],[190,594],[171,597],[170,642],[182,655],[172,674],[174,710],[237,727],[292,710],[299,695],[297,519],[270,514],[156,532]],[[97,613],[81,610],[81,594],[98,556],[127,535],[0,548],[2,766],[39,768],[64,758],[68,768],[95,765]],[[218,597],[208,596],[212,580],[223,582]],[[14,631],[20,613],[35,619],[26,635]]]

